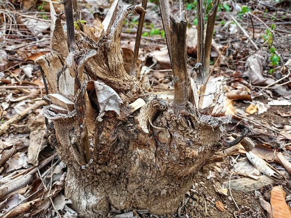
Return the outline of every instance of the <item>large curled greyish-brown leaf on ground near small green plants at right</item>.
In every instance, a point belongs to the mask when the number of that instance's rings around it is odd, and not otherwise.
[[[247,76],[253,85],[264,84],[267,81],[263,77],[263,60],[264,58],[259,54],[254,54],[246,60],[248,70],[243,75]]]

